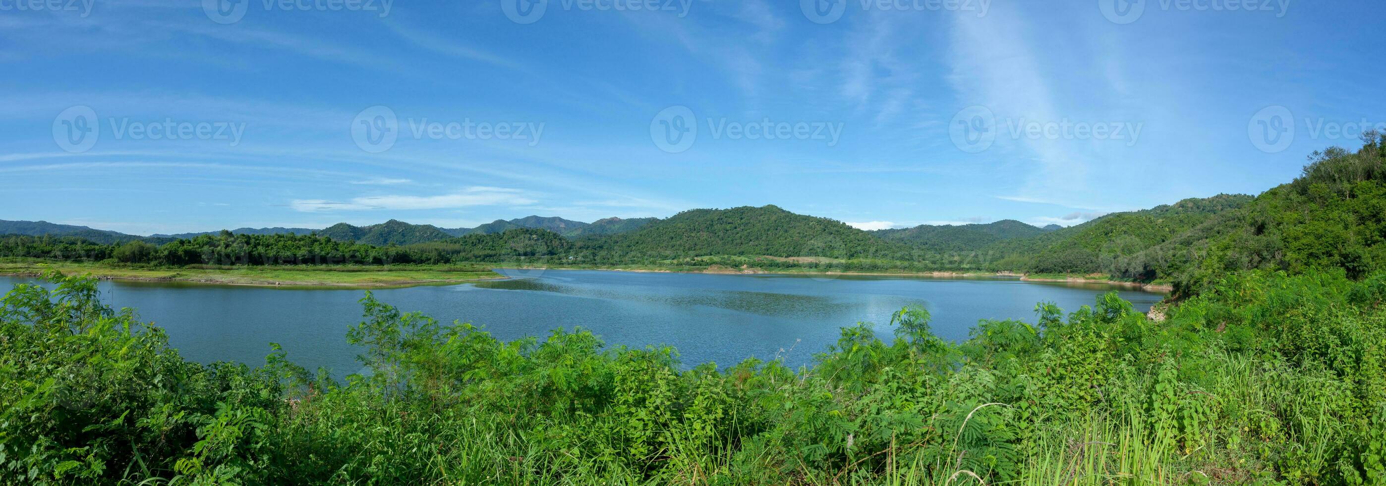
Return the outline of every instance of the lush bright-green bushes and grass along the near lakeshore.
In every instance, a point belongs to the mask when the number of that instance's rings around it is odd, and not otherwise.
[[[1380,485],[1386,276],[1221,280],[1157,323],[1106,295],[972,339],[904,309],[815,366],[679,366],[585,331],[500,342],[369,294],[333,382],[184,361],[51,276],[0,307],[4,483]],[[893,334],[894,336],[890,336]]]

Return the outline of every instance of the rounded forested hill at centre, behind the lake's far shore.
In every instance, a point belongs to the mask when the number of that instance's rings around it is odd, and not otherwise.
[[[772,205],[692,209],[635,231],[582,242],[606,258],[631,255],[640,259],[708,255],[851,259],[909,252],[902,244],[876,238],[845,223],[796,215]]]

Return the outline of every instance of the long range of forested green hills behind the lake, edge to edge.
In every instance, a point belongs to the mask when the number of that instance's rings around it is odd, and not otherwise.
[[[389,220],[317,230],[331,240],[399,245],[424,262],[511,262],[552,258],[590,266],[628,263],[694,269],[830,264],[837,271],[1019,271],[1094,274],[1141,282],[1173,282],[1189,295],[1218,285],[1229,271],[1310,269],[1362,278],[1386,269],[1386,137],[1357,152],[1315,152],[1303,174],[1260,195],[1218,194],[1150,209],[1110,213],[1055,228],[1016,220],[863,231],[827,217],[782,208],[692,209],[667,219],[603,219],[593,223],[529,216],[474,228],[438,228]],[[241,228],[281,233],[292,228]],[[312,230],[309,230],[312,231]],[[71,242],[168,242],[85,226],[0,222],[12,253],[49,258]],[[261,238],[266,245],[292,238]],[[315,238],[309,240],[312,244]],[[194,245],[225,245],[201,241]],[[57,246],[54,246],[57,245]],[[211,249],[211,248],[208,248]],[[61,251],[58,251],[61,253]],[[534,260],[528,260],[534,262]],[[543,262],[543,260],[539,260]]]

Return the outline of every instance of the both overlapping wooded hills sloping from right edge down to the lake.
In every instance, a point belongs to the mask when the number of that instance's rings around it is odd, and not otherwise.
[[[1218,195],[1117,213],[980,248],[988,270],[1166,281],[1179,294],[1239,270],[1386,270],[1386,134],[1315,152],[1300,177],[1252,198]]]

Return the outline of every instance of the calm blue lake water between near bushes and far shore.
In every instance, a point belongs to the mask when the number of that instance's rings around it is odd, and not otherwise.
[[[668,343],[682,361],[730,366],[782,354],[790,366],[837,341],[839,328],[877,323],[890,336],[890,314],[906,305],[933,313],[934,334],[966,339],[981,318],[1033,323],[1034,306],[1052,300],[1066,312],[1119,289],[1138,310],[1163,294],[1095,284],[1019,280],[717,276],[586,270],[498,270],[511,280],[446,287],[376,289],[403,312],[439,321],[485,325],[500,339],[545,336],[553,328],[592,330],[611,345]],[[0,277],[8,291],[28,278]],[[356,372],[359,349],[346,330],[360,321],[360,289],[281,289],[179,282],[103,281],[103,300],[133,307],[168,331],[183,357],[263,364],[269,343],[291,360],[334,375]]]

